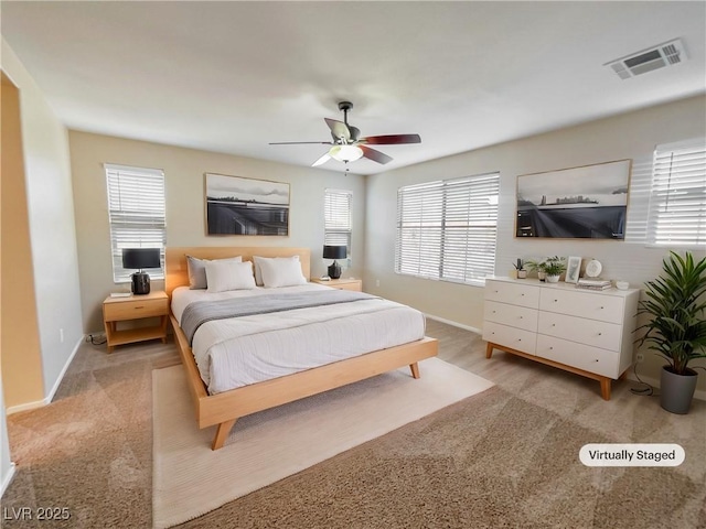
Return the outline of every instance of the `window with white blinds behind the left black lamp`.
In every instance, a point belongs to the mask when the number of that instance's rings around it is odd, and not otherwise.
[[[135,270],[122,268],[124,248],[160,248],[162,262],[167,229],[164,222],[164,173],[156,169],[105,164],[108,216],[113,247],[113,279],[127,282]],[[163,268],[150,271],[163,279]]]

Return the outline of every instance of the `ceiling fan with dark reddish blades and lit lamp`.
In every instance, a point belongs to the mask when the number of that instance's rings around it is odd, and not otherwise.
[[[419,134],[387,134],[368,136],[361,138],[361,130],[349,125],[349,110],[353,108],[351,101],[339,102],[339,110],[343,111],[343,121],[323,118],[331,129],[332,141],[281,141],[270,145],[297,145],[297,144],[323,144],[332,145],[329,151],[311,164],[312,168],[321,165],[329,160],[340,162],[354,162],[361,158],[367,158],[377,163],[388,163],[393,159],[384,152],[371,149],[367,145],[399,145],[403,143],[421,143]]]

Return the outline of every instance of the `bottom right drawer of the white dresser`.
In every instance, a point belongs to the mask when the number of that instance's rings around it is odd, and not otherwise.
[[[620,355],[555,336],[537,335],[536,355],[571,367],[617,379]]]

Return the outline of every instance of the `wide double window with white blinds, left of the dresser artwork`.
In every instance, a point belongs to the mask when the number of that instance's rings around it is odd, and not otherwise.
[[[397,192],[395,271],[481,283],[495,268],[500,173]]]

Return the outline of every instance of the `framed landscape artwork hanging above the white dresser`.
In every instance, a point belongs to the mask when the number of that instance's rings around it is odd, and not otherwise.
[[[515,237],[625,237],[631,160],[517,176]]]

